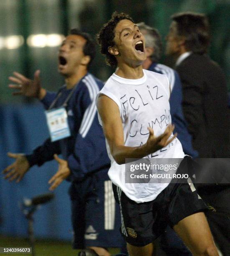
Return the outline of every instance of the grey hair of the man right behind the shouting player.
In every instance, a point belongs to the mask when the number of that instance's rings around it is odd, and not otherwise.
[[[153,62],[158,62],[162,54],[162,40],[158,30],[146,25],[144,22],[137,23],[136,25],[141,32],[146,31],[144,34],[145,46],[154,49],[153,54],[150,57]]]

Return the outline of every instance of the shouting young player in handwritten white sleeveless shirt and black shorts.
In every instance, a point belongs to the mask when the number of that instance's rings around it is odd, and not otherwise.
[[[101,28],[98,42],[107,62],[117,67],[99,92],[97,104],[129,254],[152,256],[152,241],[169,223],[194,255],[217,256],[202,212],[205,204],[189,184],[125,183],[127,158],[183,158],[185,154],[172,133],[167,77],[142,69],[146,53],[138,26],[129,15],[114,13]]]

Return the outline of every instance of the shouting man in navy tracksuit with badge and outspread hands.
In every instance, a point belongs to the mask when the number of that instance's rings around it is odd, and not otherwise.
[[[51,138],[30,155],[12,154],[15,162],[5,170],[5,178],[20,181],[37,164],[56,159],[58,172],[49,180],[50,189],[64,179],[71,182],[73,248],[91,248],[109,256],[107,247],[119,247],[119,207],[115,205],[111,181],[107,175],[110,160],[96,112],[96,95],[103,83],[88,73],[95,56],[94,43],[88,34],[71,30],[60,47],[58,71],[66,84],[57,92],[40,86],[39,73],[34,80],[14,72],[10,84],[28,97],[37,97],[46,109]],[[57,155],[62,154],[63,159]]]

